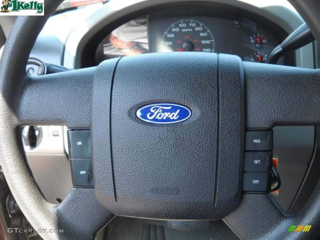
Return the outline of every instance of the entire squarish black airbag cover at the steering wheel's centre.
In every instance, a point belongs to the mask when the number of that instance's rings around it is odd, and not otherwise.
[[[222,62],[219,73],[217,55],[208,53],[158,53],[119,61],[110,103],[112,160],[108,153],[93,160],[97,196],[109,210],[137,217],[219,219],[236,207],[244,142],[242,62],[228,55]],[[108,136],[109,115],[101,109],[108,109],[110,86],[102,87],[103,69],[98,67],[93,85],[92,102],[100,100],[99,108],[92,108],[92,125],[100,128],[92,129],[92,141],[107,146],[109,140],[101,137],[106,129]],[[168,125],[136,117],[138,108],[156,102],[183,104],[192,116]],[[96,167],[97,161],[111,162],[114,195],[111,176],[105,177],[106,166]],[[175,191],[152,194],[154,188]]]

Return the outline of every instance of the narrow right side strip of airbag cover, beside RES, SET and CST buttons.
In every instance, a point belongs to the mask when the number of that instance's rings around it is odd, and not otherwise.
[[[244,76],[237,56],[219,54],[219,154],[216,202],[236,206],[242,188],[244,159]],[[234,176],[237,176],[236,178]]]

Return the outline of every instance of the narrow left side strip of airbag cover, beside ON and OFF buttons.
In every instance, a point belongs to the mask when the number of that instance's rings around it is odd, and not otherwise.
[[[96,196],[104,205],[104,201],[115,201],[110,146],[110,98],[113,73],[118,60],[102,62],[97,67],[92,86],[92,169]]]

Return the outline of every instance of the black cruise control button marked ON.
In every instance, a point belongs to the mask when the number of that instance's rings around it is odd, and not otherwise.
[[[90,158],[90,130],[68,130],[70,158]]]

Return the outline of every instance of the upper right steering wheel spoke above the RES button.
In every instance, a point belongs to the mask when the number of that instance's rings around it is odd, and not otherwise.
[[[318,69],[243,62],[246,127],[320,124]]]

